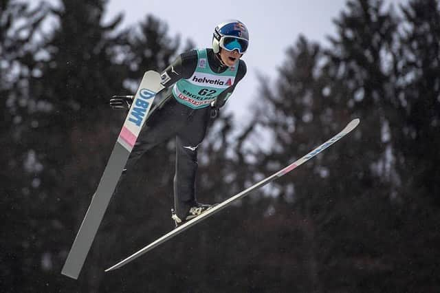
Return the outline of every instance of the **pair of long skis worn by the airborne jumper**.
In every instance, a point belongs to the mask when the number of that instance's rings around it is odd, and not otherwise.
[[[94,240],[96,232],[98,230],[100,221],[104,215],[105,210],[109,204],[109,200],[111,195],[113,195],[113,191],[115,189],[115,185],[117,184],[119,177],[122,173],[122,169],[126,164],[126,160],[129,158],[131,150],[133,149],[134,143],[136,141],[137,135],[139,135],[140,129],[146,120],[146,116],[148,115],[148,111],[153,103],[153,99],[157,92],[161,91],[164,87],[160,84],[160,76],[157,72],[146,72],[144,74],[144,78],[142,79],[142,83],[140,88],[137,90],[135,98],[133,100],[133,104],[130,108],[129,114],[124,122],[124,126],[122,127],[122,131],[118,138],[118,141],[115,144],[115,148],[111,153],[109,162],[107,163],[107,167],[104,170],[104,174],[100,180],[100,184],[96,190],[94,197],[91,200],[91,204],[89,206],[89,210],[85,215],[83,220],[83,224],[80,226],[80,230],[78,231],[78,235],[74,241],[72,249],[69,252],[67,260],[62,270],[62,274],[69,276],[71,278],[77,279],[80,273],[81,268],[83,267],[83,263],[85,258],[87,257],[87,253],[91,247],[91,243]],[[230,206],[233,202],[249,195],[252,191],[265,186],[269,182],[276,180],[277,178],[289,173],[294,170],[296,167],[301,164],[307,162],[314,156],[321,153],[327,147],[331,146],[331,144],[337,142],[349,132],[351,132],[355,127],[358,126],[360,120],[354,119],[347,126],[340,131],[340,133],[333,136],[333,138],[327,140],[327,142],[321,144],[316,149],[310,151],[306,155],[304,155],[299,160],[296,160],[292,164],[289,164],[284,169],[274,173],[273,175],[266,177],[265,179],[257,182],[253,186],[245,189],[245,191],[241,191],[220,204],[214,206],[210,210],[207,210],[205,213],[187,221],[185,224],[175,228],[174,230],[168,232],[166,235],[160,237],[159,239],[153,241],[148,244],[141,250],[135,252],[131,256],[123,259],[119,263],[111,266],[105,270],[109,272],[111,270],[115,270],[117,268],[122,267],[122,265],[126,265],[127,263],[137,259],[142,254],[152,250],[156,246],[168,241],[169,239],[179,235],[184,230],[194,226],[195,224],[203,221],[204,219],[214,215],[214,213],[219,212],[223,208]]]

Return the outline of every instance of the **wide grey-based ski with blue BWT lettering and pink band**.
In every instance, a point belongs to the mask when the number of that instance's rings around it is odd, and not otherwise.
[[[159,73],[145,72],[61,274],[78,279],[137,135],[144,125],[156,94],[164,89],[160,82]]]

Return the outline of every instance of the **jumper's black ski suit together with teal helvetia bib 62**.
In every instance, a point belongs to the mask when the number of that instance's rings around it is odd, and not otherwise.
[[[146,151],[175,137],[174,202],[181,219],[197,202],[197,148],[206,135],[211,111],[224,105],[245,74],[244,61],[233,67],[222,65],[212,49],[185,52],[161,74],[162,85],[173,90],[151,111],[125,168],[129,171]]]

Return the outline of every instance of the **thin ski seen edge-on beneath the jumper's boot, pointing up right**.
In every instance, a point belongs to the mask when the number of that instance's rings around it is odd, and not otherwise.
[[[261,188],[262,186],[265,186],[265,184],[272,182],[272,181],[276,180],[277,178],[289,173],[290,171],[294,170],[296,167],[300,166],[304,162],[307,162],[308,160],[310,160],[314,156],[318,155],[318,153],[327,149],[329,146],[331,146],[331,144],[334,144],[335,142],[337,142],[338,140],[343,138],[345,135],[347,135],[347,133],[349,133],[350,131],[355,129],[355,127],[358,126],[359,122],[360,122],[359,119],[352,120],[351,122],[349,122],[349,124],[347,124],[347,126],[342,131],[340,131],[340,133],[336,134],[335,136],[333,136],[333,138],[327,140],[327,142],[321,144],[313,151],[310,151],[309,153],[307,153],[307,155],[304,155],[299,160],[296,160],[292,164],[289,164],[289,166],[286,166],[284,169],[281,169],[280,171],[274,173],[270,177],[266,177],[265,179],[261,180],[260,182],[254,184],[253,186],[250,186],[249,188],[245,189],[244,191],[241,191],[241,193],[238,193],[228,199],[225,199],[225,201],[221,202],[220,204],[217,204],[216,206],[214,206],[214,208],[207,210],[205,213],[199,215],[198,217],[195,217],[194,219],[187,221],[185,224],[182,224],[181,226],[175,228],[174,230],[171,230],[166,235],[164,235],[164,236],[160,237],[159,239],[153,241],[152,243],[148,244],[148,246],[145,246],[141,250],[135,252],[134,254],[131,254],[131,256],[127,257],[126,259],[124,259],[124,260],[120,261],[119,263],[116,263],[112,267],[108,268],[107,270],[105,270],[105,272],[109,272],[111,270],[115,270],[117,268],[122,267],[122,265],[126,265],[127,263],[133,261],[134,259],[137,259],[137,257],[140,257],[145,252],[148,252],[149,250],[152,250],[156,246],[159,246],[159,244],[164,243],[165,241],[175,237],[176,235],[179,235],[181,232],[184,232],[184,230],[190,228],[191,226],[194,226],[195,224],[199,223],[200,221],[203,221],[204,219],[214,215],[214,213],[217,213],[220,210],[222,210],[223,208],[229,206],[230,204],[232,204],[232,202],[235,202],[236,200],[245,197],[246,195],[248,195],[252,191],[254,191],[258,188]]]

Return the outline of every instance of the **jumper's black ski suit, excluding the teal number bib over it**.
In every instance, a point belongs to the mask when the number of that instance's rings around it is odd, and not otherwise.
[[[221,65],[212,49],[207,49],[206,54],[212,72],[221,74],[228,69],[227,66]],[[195,72],[197,63],[196,50],[179,55],[161,74],[162,77],[166,76],[168,79],[163,83],[164,86],[170,87],[181,78],[190,78]],[[214,107],[192,109],[178,102],[170,91],[164,101],[151,111],[151,115],[137,137],[126,163],[127,171],[130,171],[133,164],[153,146],[170,138],[176,138],[174,200],[175,212],[180,219],[185,219],[190,207],[197,202],[195,195],[197,147],[206,135],[211,113],[224,105],[225,100],[245,74],[246,65],[240,60],[236,68],[234,83],[217,96]]]

